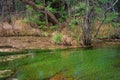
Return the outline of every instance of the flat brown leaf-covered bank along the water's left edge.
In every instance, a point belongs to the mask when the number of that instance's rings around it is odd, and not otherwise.
[[[54,44],[51,37],[0,37],[0,52],[20,51],[24,49],[65,49],[78,46],[65,46]]]

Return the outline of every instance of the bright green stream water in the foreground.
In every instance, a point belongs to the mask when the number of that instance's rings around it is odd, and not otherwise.
[[[49,80],[62,74],[65,80],[120,80],[120,46],[91,49],[29,51],[29,57],[2,63],[18,80]],[[58,79],[59,80],[59,79]]]

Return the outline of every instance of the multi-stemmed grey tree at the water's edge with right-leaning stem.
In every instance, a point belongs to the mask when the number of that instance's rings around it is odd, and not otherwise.
[[[117,2],[118,0],[112,0],[112,2],[109,0],[79,0],[79,8],[77,9],[78,11],[81,10],[78,12],[80,13],[78,17],[81,17],[79,19],[79,25],[82,28],[82,44],[84,46],[92,45],[92,39],[98,35],[98,32],[105,21],[108,20],[109,22],[112,22],[117,17],[114,8]],[[92,35],[91,27],[96,27],[93,26],[96,21],[99,21],[100,23],[96,31],[94,31],[95,34]]]

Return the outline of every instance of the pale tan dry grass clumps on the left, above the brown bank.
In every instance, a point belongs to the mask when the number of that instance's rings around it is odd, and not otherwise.
[[[23,35],[40,35],[39,29],[32,28],[29,23],[23,20],[15,20],[12,24],[8,22],[0,23],[1,36],[23,36]]]

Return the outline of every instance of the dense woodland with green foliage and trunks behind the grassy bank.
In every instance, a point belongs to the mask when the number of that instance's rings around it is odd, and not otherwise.
[[[1,0],[1,25],[8,22],[14,28],[15,19],[22,19],[34,28],[57,30],[58,38],[63,28],[69,28],[67,32],[71,32],[67,35],[77,37],[82,45],[89,46],[96,37],[120,37],[119,5],[118,0]],[[116,33],[97,36],[103,25],[114,27]],[[76,34],[78,27],[81,30]],[[13,33],[19,35],[19,31],[13,30]],[[54,41],[60,42],[59,39]]]

